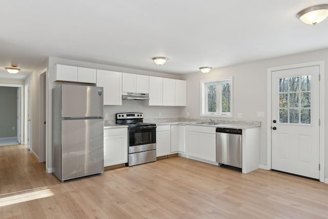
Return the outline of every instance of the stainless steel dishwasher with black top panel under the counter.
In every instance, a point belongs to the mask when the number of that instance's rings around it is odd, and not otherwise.
[[[216,162],[241,168],[241,129],[216,128]]]

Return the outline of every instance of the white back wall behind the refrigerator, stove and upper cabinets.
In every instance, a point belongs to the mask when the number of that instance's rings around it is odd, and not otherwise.
[[[85,68],[93,68],[93,69],[100,69],[100,70],[109,70],[109,71],[116,71],[116,72],[126,72],[132,74],[139,74],[139,75],[150,75],[156,77],[166,77],[166,78],[173,78],[173,79],[180,79],[179,75],[173,74],[165,74],[165,73],[156,73],[156,72],[149,72],[149,71],[142,71],[142,70],[135,70],[129,68],[121,68],[115,67],[112,65],[105,65],[105,64],[97,64],[91,62],[84,62],[84,61],[76,61],[71,59],[63,59],[57,57],[49,57],[48,63],[48,111],[47,111],[47,133],[48,133],[48,140],[47,140],[47,171],[52,172],[52,89],[58,86],[60,83],[53,82],[54,81],[54,65],[55,64],[67,64],[73,65],[78,67],[85,67]],[[33,101],[34,103],[34,101]],[[146,118],[154,118],[156,114],[158,115],[158,111],[162,112],[163,116],[168,117],[179,117],[181,112],[181,107],[166,107],[166,106],[147,106],[141,102],[137,102],[132,100],[131,102],[123,101],[122,106],[105,106],[105,113],[109,114],[109,119],[115,119],[115,113],[119,112],[126,112],[126,111],[140,111],[145,113]],[[152,117],[154,116],[154,117]]]

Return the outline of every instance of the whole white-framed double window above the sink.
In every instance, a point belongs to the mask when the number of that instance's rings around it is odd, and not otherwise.
[[[201,116],[232,117],[232,78],[200,81]]]

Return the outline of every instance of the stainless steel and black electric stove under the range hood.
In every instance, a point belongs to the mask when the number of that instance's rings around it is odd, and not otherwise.
[[[142,113],[118,113],[116,124],[128,125],[128,165],[156,161],[156,124],[144,123]]]

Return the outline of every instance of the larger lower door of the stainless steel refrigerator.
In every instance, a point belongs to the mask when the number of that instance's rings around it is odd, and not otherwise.
[[[103,119],[63,120],[61,148],[61,180],[103,172]]]

